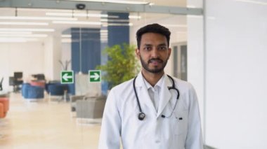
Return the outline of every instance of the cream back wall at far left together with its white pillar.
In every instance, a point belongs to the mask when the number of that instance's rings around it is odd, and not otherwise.
[[[60,59],[60,36],[48,36],[44,42],[0,43],[0,79],[4,77],[4,91],[13,90],[8,79],[14,71],[22,71],[25,81],[34,73],[44,73],[47,80],[60,80]]]

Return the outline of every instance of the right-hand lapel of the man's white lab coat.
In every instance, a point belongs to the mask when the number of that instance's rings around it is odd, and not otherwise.
[[[169,100],[171,99],[171,92],[169,92],[168,87],[171,87],[171,82],[167,75],[164,74],[164,80],[162,83],[162,94],[160,94],[159,97],[159,109],[157,111],[157,118],[159,115],[162,115],[162,111],[164,111],[164,108],[167,106]]]

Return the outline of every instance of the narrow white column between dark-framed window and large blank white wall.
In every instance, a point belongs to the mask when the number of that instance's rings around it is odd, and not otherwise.
[[[188,0],[188,7],[202,8],[202,0]],[[192,83],[197,92],[200,104],[203,139],[205,140],[205,52],[204,26],[202,15],[188,15],[188,82]]]

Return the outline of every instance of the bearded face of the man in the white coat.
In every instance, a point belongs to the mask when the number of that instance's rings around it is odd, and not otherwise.
[[[164,72],[171,49],[168,48],[164,35],[145,33],[141,38],[140,49],[136,49],[136,55],[141,60],[143,71],[161,73]]]

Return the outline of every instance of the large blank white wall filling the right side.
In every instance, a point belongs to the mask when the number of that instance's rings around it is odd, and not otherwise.
[[[207,0],[210,146],[267,148],[266,14],[266,5]]]

